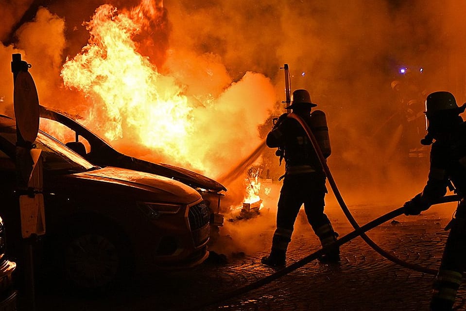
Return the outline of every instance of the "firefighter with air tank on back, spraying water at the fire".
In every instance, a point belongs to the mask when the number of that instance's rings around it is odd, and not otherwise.
[[[292,109],[293,113],[303,118],[313,133],[320,131],[320,134],[325,134],[319,136],[324,139],[318,140],[327,158],[330,155],[327,122],[324,112],[317,110],[311,114],[311,108],[315,106],[307,90],[297,89],[293,92],[291,105],[286,109]],[[324,213],[324,197],[327,193],[325,173],[311,140],[299,122],[287,118],[286,113],[282,114],[272,131],[268,133],[266,143],[270,148],[278,147],[279,152],[283,152],[280,156],[286,163],[285,174],[282,176],[283,186],[278,199],[272,249],[268,256],[262,258],[263,264],[275,267],[285,265],[286,250],[291,241],[294,222],[303,204],[307,219],[322,246],[335,242],[338,235]],[[319,260],[338,262],[340,260],[338,246],[331,248]]]

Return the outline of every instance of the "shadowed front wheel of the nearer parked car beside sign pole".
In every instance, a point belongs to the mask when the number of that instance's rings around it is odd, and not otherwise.
[[[72,290],[103,293],[132,275],[130,243],[105,222],[73,222],[58,247],[63,280]]]

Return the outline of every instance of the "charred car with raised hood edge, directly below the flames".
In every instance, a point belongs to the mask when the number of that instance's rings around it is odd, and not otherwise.
[[[40,106],[40,117],[42,119],[57,121],[70,129],[73,132],[74,141],[62,142],[95,165],[153,173],[180,181],[196,189],[202,195],[204,202],[206,202],[209,208],[211,228],[218,229],[218,227],[223,225],[224,216],[220,213],[220,199],[224,196],[223,192],[226,191],[226,188],[219,182],[181,167],[165,163],[153,163],[124,155],[65,112]],[[88,150],[86,150],[86,146],[82,142],[83,140],[88,145]]]

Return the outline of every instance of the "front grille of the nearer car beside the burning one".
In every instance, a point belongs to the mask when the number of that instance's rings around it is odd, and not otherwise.
[[[188,220],[195,246],[201,245],[209,238],[209,218],[209,209],[204,201],[190,207]]]

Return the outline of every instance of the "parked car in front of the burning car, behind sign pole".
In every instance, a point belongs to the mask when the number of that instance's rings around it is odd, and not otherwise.
[[[19,210],[16,139],[15,121],[0,116],[6,222]],[[53,263],[53,274],[80,288],[105,288],[133,273],[207,259],[209,214],[196,190],[160,175],[95,166],[42,131],[34,144],[43,161],[44,262]],[[6,234],[15,243],[12,232]]]

